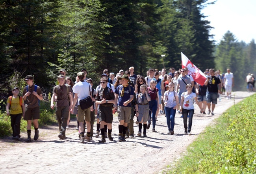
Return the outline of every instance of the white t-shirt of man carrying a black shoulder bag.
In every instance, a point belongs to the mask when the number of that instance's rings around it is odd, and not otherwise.
[[[91,85],[87,82],[77,82],[73,86],[73,92],[78,94],[78,105],[80,105],[79,101],[85,99],[86,97],[90,96]]]

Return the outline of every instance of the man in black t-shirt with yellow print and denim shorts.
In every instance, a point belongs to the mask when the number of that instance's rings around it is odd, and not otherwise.
[[[213,116],[215,105],[217,104],[217,97],[218,93],[221,92],[221,80],[219,77],[215,76],[214,69],[209,69],[210,76],[207,76],[204,85],[207,86],[206,91],[206,99],[207,99],[207,107],[208,107],[208,114],[211,113]]]

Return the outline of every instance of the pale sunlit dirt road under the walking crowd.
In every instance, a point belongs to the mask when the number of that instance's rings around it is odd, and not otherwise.
[[[67,139],[58,139],[58,127],[50,126],[39,129],[39,139],[24,143],[26,133],[21,140],[0,139],[0,173],[160,173],[167,165],[175,163],[189,144],[194,141],[204,128],[213,123],[226,109],[253,94],[233,92],[233,100],[222,97],[215,108],[215,116],[199,114],[196,106],[193,117],[192,136],[185,135],[183,119],[176,113],[174,135],[167,134],[168,128],[164,115],[158,116],[156,131],[148,130],[147,138],[126,139],[118,142],[118,120],[113,121],[114,141],[98,144],[100,138],[93,137],[90,143],[78,143],[78,131],[75,121],[70,122]],[[135,120],[135,119],[134,119]],[[96,124],[95,124],[96,125]],[[152,128],[152,127],[151,127]],[[94,129],[96,132],[96,129]],[[135,135],[138,125],[134,123]],[[33,132],[33,131],[32,131]],[[32,133],[33,137],[33,133]]]

